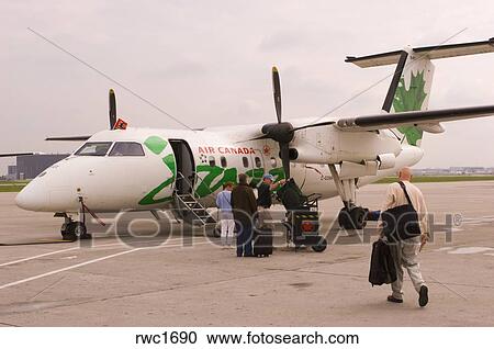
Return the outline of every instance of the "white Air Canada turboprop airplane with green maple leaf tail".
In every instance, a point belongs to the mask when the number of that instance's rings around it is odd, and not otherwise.
[[[29,211],[65,217],[65,239],[87,238],[85,214],[122,210],[178,210],[184,221],[214,223],[206,209],[222,184],[246,173],[256,185],[269,172],[293,178],[304,194],[339,196],[339,224],[361,228],[366,209],[358,188],[417,164],[424,133],[441,133],[442,122],[491,116],[494,105],[428,111],[431,60],[494,52],[484,42],[406,47],[371,56],[347,57],[368,68],[396,65],[382,112],[351,117],[282,120],[279,72],[272,69],[277,122],[204,130],[126,127],[116,121],[110,91],[110,130],[92,136],[52,137],[85,140],[68,158],[32,180],[15,198]],[[12,156],[14,154],[9,154]]]

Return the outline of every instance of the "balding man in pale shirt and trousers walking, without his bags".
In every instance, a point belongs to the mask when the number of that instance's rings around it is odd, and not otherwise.
[[[403,168],[398,172],[398,178],[400,181],[405,184],[412,205],[418,214],[422,235],[398,240],[390,245],[391,254],[396,263],[397,280],[391,284],[393,293],[388,297],[388,301],[392,303],[403,303],[402,267],[405,267],[415,290],[419,294],[418,304],[420,306],[426,306],[428,303],[428,288],[422,277],[419,264],[417,262],[417,256],[422,249],[422,246],[425,245],[428,239],[427,206],[420,190],[409,182],[412,179],[412,170],[407,167]],[[382,212],[406,204],[408,204],[408,200],[406,199],[405,191],[402,189],[400,183],[395,182],[390,184],[388,187]],[[382,235],[382,222],[380,222],[380,227]]]

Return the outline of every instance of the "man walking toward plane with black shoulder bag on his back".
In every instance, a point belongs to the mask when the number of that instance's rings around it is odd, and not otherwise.
[[[417,256],[428,239],[427,206],[420,190],[412,184],[412,170],[403,168],[400,182],[388,188],[382,207],[381,236],[390,244],[390,251],[396,266],[396,281],[391,284],[393,293],[389,302],[403,303],[403,268],[418,293],[419,306],[428,303],[428,288],[422,277]]]

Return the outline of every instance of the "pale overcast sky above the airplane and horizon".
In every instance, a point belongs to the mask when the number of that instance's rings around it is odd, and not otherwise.
[[[132,126],[181,126],[60,53],[32,27],[191,127],[317,117],[393,67],[360,69],[346,55],[494,36],[489,1],[8,1],[0,0],[0,153],[70,151],[48,135],[108,127],[108,89]],[[494,103],[494,54],[436,60],[429,109]],[[379,111],[389,80],[334,115]],[[494,166],[494,117],[426,134],[418,167]],[[13,160],[0,161],[0,173]]]

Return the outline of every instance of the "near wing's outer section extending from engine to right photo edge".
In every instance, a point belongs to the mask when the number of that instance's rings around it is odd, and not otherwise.
[[[341,131],[377,131],[400,126],[434,125],[446,121],[457,121],[494,115],[494,105],[454,108],[431,111],[386,113],[339,119],[335,126]]]

